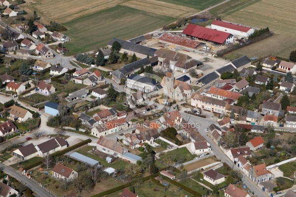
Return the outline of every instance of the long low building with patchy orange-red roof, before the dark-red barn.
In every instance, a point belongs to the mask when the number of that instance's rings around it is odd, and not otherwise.
[[[178,35],[173,35],[171,33],[163,33],[159,36],[159,40],[169,43],[169,44],[176,44],[180,46],[184,46],[190,49],[197,49],[205,45],[203,42],[199,42],[197,40],[188,39],[185,37],[181,37]]]

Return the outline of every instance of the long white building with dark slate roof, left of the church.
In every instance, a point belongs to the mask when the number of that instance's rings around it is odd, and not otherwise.
[[[143,93],[150,93],[160,89],[159,82],[154,79],[143,77],[141,75],[132,74],[127,77],[126,86],[130,89],[136,89]]]

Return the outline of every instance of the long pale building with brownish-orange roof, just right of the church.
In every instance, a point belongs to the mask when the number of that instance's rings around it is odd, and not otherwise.
[[[191,97],[191,105],[203,110],[209,110],[211,112],[223,114],[225,113],[228,102],[195,93]]]

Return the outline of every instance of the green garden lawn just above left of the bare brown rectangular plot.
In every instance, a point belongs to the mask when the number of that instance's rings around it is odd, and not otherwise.
[[[193,160],[196,155],[192,155],[186,147],[177,148],[175,150],[159,155],[159,160],[166,163],[188,162]]]

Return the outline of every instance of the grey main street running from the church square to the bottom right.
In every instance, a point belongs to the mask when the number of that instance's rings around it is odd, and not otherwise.
[[[181,112],[182,117],[186,117],[186,113]],[[209,127],[211,124],[217,124],[214,121],[207,120],[198,116],[188,116],[188,123],[190,124],[199,124],[199,132],[200,134],[207,140],[207,142],[210,143],[212,151],[215,153],[218,159],[220,159],[222,162],[228,164],[230,167],[232,167],[235,170],[241,170],[233,164],[233,162],[223,153],[223,151],[214,143],[214,141],[207,135],[207,132],[204,131],[207,127]],[[256,197],[266,197],[267,194],[264,193],[256,184],[254,181],[252,181],[249,177],[244,177],[245,185],[249,188],[249,190],[254,191],[256,194]]]

